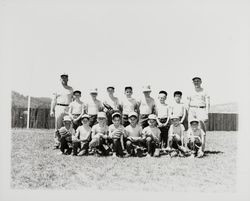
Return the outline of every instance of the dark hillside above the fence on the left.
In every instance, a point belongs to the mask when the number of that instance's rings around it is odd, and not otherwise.
[[[26,108],[28,106],[28,96],[24,96],[18,92],[11,92],[12,107]],[[47,97],[31,97],[31,108],[50,108],[51,99]]]

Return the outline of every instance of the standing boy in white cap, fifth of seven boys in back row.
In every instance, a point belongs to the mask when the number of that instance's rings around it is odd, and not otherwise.
[[[142,128],[148,126],[148,116],[155,113],[155,100],[150,96],[151,87],[144,86],[142,90],[144,97],[139,101],[140,125]]]

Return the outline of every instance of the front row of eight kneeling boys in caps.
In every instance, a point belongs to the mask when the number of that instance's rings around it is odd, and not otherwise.
[[[179,117],[172,116],[172,124],[168,131],[167,147],[163,147],[161,131],[157,127],[157,117],[149,115],[149,126],[142,129],[138,124],[138,114],[129,114],[130,124],[124,128],[121,124],[121,114],[112,115],[110,126],[106,124],[106,114],[99,112],[98,124],[89,126],[89,116],[81,117],[82,125],[76,131],[72,128],[69,116],[64,117],[64,126],[58,130],[60,139],[60,154],[74,156],[155,156],[165,153],[173,156],[202,157],[204,155],[204,131],[199,127],[199,120],[190,121],[190,127],[185,132]]]

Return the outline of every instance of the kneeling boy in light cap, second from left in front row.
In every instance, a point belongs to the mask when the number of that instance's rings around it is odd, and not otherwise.
[[[82,125],[76,129],[72,136],[73,155],[82,156],[88,153],[89,142],[91,139],[91,127],[89,126],[89,115],[84,114],[81,117]],[[78,152],[79,149],[79,152]]]

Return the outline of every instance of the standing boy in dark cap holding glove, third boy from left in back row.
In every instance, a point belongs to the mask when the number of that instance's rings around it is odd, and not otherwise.
[[[107,87],[108,97],[103,101],[104,111],[107,114],[108,126],[112,124],[112,114],[114,112],[121,112],[121,105],[119,99],[114,96],[115,87]]]

